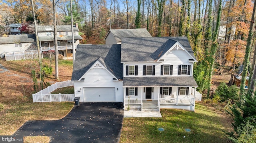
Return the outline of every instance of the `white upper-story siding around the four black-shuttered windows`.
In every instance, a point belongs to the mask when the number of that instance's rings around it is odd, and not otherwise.
[[[164,60],[164,62],[145,62],[145,63],[124,63],[124,77],[126,77],[126,65],[138,65],[138,76],[143,76],[143,65],[155,65],[155,75],[154,76],[161,76],[161,65],[173,65],[173,72],[172,76],[180,76],[178,75],[178,66],[179,65],[191,65],[190,69],[190,76],[193,73],[193,63],[189,62],[189,59],[192,59],[192,57],[186,53],[186,51],[183,50],[172,50],[171,52],[167,52],[161,59]],[[135,75],[130,75],[135,76]],[[129,77],[130,77],[129,76]],[[146,75],[151,76],[151,75]],[[164,76],[170,76],[170,75],[164,75]],[[189,76],[189,75],[182,75],[182,76]],[[145,76],[143,76],[145,77]]]

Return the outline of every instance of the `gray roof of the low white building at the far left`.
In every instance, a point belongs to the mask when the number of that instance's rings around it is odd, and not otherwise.
[[[9,35],[9,37],[0,37],[0,44],[27,43],[27,42],[35,42],[35,41],[36,41],[36,36],[34,34]]]

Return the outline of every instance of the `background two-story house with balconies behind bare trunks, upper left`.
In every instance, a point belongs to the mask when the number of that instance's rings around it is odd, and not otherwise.
[[[75,49],[82,37],[78,27],[74,27]],[[38,26],[38,39],[42,51],[54,50],[54,27],[45,25]],[[58,52],[64,57],[73,57],[71,25],[57,25]]]

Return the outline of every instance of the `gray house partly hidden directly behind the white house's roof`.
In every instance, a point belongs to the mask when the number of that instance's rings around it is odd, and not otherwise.
[[[145,28],[110,29],[105,37],[106,45],[121,44],[123,38],[152,37]]]

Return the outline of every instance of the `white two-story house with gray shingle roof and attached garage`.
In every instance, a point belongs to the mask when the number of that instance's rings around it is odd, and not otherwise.
[[[80,102],[124,102],[124,108],[194,111],[201,94],[186,37],[124,38],[121,45],[78,45],[72,80]],[[151,104],[148,106],[148,104]],[[153,105],[153,106],[152,106]]]

